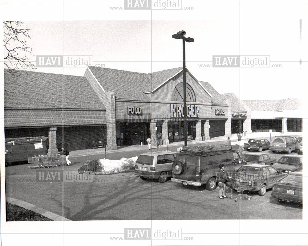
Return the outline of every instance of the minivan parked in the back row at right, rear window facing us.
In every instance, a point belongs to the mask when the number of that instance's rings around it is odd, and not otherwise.
[[[270,142],[270,150],[272,150],[273,153],[281,151],[291,154],[291,151],[299,150],[299,147],[300,145],[298,144],[297,138],[292,136],[273,137]]]

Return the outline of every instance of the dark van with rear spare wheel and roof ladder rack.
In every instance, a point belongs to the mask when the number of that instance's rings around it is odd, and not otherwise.
[[[172,164],[172,181],[182,185],[205,185],[212,191],[216,188],[219,164],[224,164],[226,173],[231,176],[240,167],[238,150],[231,147],[200,146],[196,150],[184,150],[176,154]]]

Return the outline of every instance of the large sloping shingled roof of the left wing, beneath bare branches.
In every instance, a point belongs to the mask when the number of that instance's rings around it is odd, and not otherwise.
[[[4,69],[5,108],[106,109],[85,77]]]

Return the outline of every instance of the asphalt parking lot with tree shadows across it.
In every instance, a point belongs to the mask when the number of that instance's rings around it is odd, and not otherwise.
[[[278,160],[284,154],[269,155]],[[72,161],[74,166],[53,170],[73,173],[83,159]],[[30,182],[35,179],[35,170],[28,166],[6,167],[6,196],[71,220],[302,219],[302,204],[280,204],[271,197],[271,189],[265,196],[250,193],[251,200],[235,202],[218,199],[218,188],[207,191],[205,187],[183,187],[170,179],[165,183],[144,181],[133,172],[95,175],[94,182]],[[230,191],[226,191],[228,197]]]

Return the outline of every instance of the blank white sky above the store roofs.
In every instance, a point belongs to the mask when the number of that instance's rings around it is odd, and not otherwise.
[[[234,92],[241,100],[298,98],[304,94],[298,88],[306,83],[307,62],[300,69],[298,60],[308,61],[308,52],[300,45],[299,20],[303,19],[304,44],[307,5],[242,5],[240,11],[237,5],[194,5],[194,10],[152,11],[152,21],[149,10],[124,10],[128,15],[124,19],[117,15],[120,11],[104,7],[103,12],[94,6],[91,15],[82,16],[79,14],[87,12],[87,5],[68,6],[64,22],[25,22],[32,29],[28,44],[34,55],[93,55],[96,64],[106,68],[155,72],[182,66],[181,41],[171,36],[185,30],[187,37],[195,39],[186,43],[187,68],[218,92]],[[114,20],[99,20],[111,17]],[[183,19],[174,20],[179,17]],[[89,18],[93,20],[87,21]],[[282,68],[199,67],[212,64],[212,55],[239,54],[270,55],[271,64],[282,64]],[[35,71],[83,76],[85,68]]]

